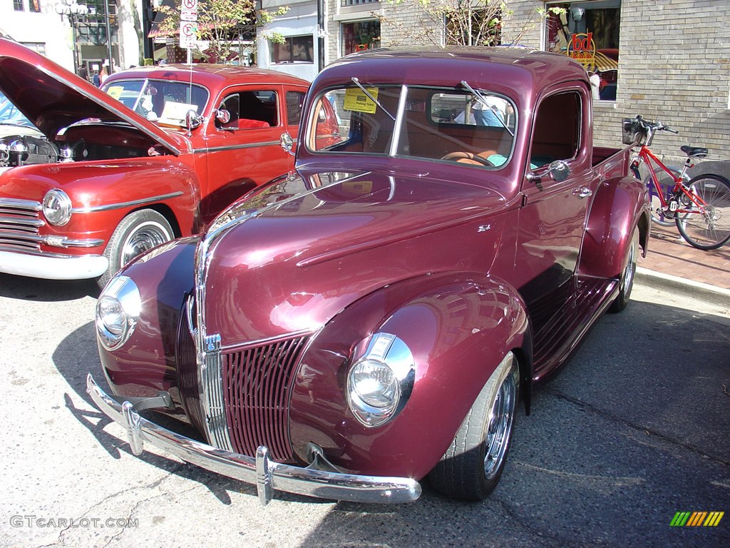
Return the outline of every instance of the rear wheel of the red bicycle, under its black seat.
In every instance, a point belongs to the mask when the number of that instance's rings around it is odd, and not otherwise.
[[[698,249],[717,249],[726,244],[730,240],[730,181],[703,173],[690,180],[688,191],[702,199],[704,206],[683,197],[682,208],[688,214],[677,218],[682,237]]]

